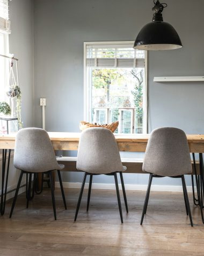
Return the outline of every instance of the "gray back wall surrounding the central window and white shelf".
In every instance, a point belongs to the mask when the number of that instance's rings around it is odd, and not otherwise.
[[[156,83],[153,78],[203,74],[204,2],[193,1],[199,6],[196,12],[190,0],[166,2],[164,20],[176,28],[184,48],[149,53],[149,132],[174,126],[188,134],[203,133],[203,83]],[[83,42],[134,40],[150,22],[151,8],[149,0],[34,0],[35,126],[42,126],[39,99],[45,97],[46,129],[79,131],[83,120]],[[81,182],[81,174],[64,174],[64,181]],[[97,177],[96,181],[113,182],[109,177]],[[147,177],[126,175],[125,182],[145,184]],[[158,179],[159,183],[180,184],[175,179]]]

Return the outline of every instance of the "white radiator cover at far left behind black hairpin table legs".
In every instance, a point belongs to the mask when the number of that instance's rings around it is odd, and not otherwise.
[[[7,171],[7,164],[8,164],[8,155],[9,155],[9,150],[7,150],[6,171]],[[3,157],[2,157],[2,154],[0,154],[0,191],[1,191],[1,193],[2,193],[2,160],[3,160]],[[13,151],[11,151],[7,192],[9,192],[13,189],[16,189],[19,176],[20,176],[20,170],[14,168],[14,166],[13,166]],[[5,173],[5,178],[6,178],[6,173]],[[26,175],[23,175],[20,185],[22,186],[25,184],[26,184]],[[4,180],[4,186],[5,186],[5,180]],[[25,191],[25,188],[22,188],[22,189],[19,191],[19,193]],[[13,196],[13,193],[9,193],[6,196],[6,198],[9,199],[12,196]]]

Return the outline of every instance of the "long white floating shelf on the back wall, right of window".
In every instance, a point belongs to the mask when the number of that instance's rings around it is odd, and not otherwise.
[[[154,82],[191,82],[204,81],[204,76],[201,77],[154,77]]]

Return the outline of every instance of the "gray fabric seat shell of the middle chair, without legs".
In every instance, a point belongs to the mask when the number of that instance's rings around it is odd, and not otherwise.
[[[106,128],[83,130],[78,147],[77,169],[92,174],[123,171],[118,145]]]

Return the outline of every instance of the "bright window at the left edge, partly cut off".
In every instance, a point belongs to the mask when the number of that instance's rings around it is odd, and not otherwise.
[[[8,0],[0,0],[0,54],[9,53],[9,11]],[[5,86],[8,78],[9,60],[0,56],[0,101],[5,100]]]

